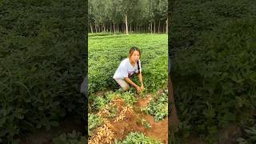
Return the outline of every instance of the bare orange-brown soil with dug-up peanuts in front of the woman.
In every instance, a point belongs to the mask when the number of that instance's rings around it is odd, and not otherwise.
[[[144,107],[151,101],[151,96],[146,98],[139,98],[134,106]],[[110,131],[114,132],[112,140],[124,139],[132,131],[139,131],[150,138],[159,140],[162,143],[168,143],[168,118],[161,122],[154,122],[154,117],[148,114],[143,114],[140,111],[134,111],[132,107],[124,106],[122,99],[114,99],[113,104],[118,107],[118,116],[116,118],[108,119],[110,123]],[[151,128],[146,128],[142,125],[142,119],[150,123]]]

